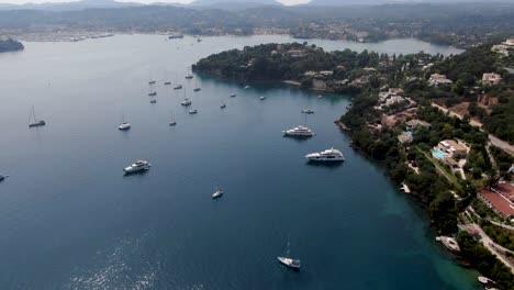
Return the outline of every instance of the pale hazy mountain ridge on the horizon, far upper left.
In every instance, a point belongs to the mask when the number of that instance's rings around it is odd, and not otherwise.
[[[141,3],[118,2],[114,0],[82,0],[76,2],[55,2],[55,3],[25,3],[25,4],[1,4],[0,10],[48,10],[48,11],[74,11],[92,8],[126,8],[126,7],[141,7]]]

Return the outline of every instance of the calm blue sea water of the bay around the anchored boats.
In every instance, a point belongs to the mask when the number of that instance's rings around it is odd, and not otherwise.
[[[123,35],[0,55],[0,171],[10,175],[0,183],[0,288],[476,289],[477,274],[454,264],[424,214],[333,124],[349,97],[183,79],[211,53],[289,41]],[[175,76],[198,115],[163,86]],[[26,127],[31,104],[45,127]],[[305,120],[304,108],[315,114]],[[130,132],[116,130],[122,112]],[[304,122],[315,137],[282,137]],[[306,153],[332,146],[347,161],[305,163]],[[138,158],[152,170],[124,177]],[[226,193],[213,202],[216,186]],[[276,260],[288,236],[300,272]]]

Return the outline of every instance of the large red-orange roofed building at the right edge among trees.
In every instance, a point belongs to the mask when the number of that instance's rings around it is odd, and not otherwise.
[[[511,183],[504,182],[490,189],[482,189],[479,199],[501,216],[505,219],[514,217],[514,186]]]

